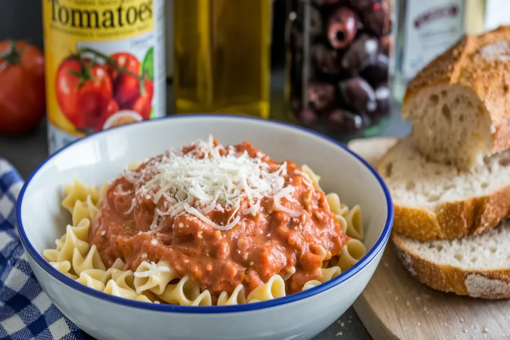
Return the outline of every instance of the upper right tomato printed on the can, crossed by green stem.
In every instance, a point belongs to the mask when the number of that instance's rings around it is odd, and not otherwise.
[[[113,96],[120,107],[125,106],[140,93],[140,81],[137,76],[140,72],[140,62],[135,56],[121,52],[110,56],[119,67],[133,73],[118,71],[113,66],[108,66],[108,73],[113,81]]]

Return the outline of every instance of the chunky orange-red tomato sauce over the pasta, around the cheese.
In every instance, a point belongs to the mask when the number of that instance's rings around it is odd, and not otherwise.
[[[260,150],[244,142],[236,145],[238,152],[246,151],[255,157]],[[195,152],[185,147],[183,152]],[[260,154],[259,154],[260,155]],[[201,157],[197,152],[197,157]],[[135,173],[158,163],[156,156],[142,164]],[[279,163],[263,155],[261,160],[276,171]],[[218,230],[185,213],[167,216],[157,230],[150,230],[155,209],[164,210],[168,200],[162,196],[157,204],[154,194],[137,195],[140,183],[132,184],[118,177],[109,186],[104,205],[92,223],[89,242],[97,246],[107,267],[117,257],[124,259],[126,270],[136,270],[142,261],[157,263],[164,259],[181,275],[189,275],[202,290],[213,296],[221,292],[232,293],[242,283],[249,292],[266,282],[272,275],[295,273],[286,281],[288,293],[299,292],[305,282],[322,278],[323,257],[320,247],[328,255],[337,255],[348,240],[340,224],[330,213],[324,192],[314,189],[301,168],[287,161],[285,185],[295,190],[281,203],[299,212],[292,217],[284,211],[274,210],[272,198],[263,198],[255,216],[243,215],[230,230]],[[150,175],[143,181],[150,180]],[[136,204],[131,210],[133,198]],[[239,211],[248,207],[248,199],[241,202]],[[218,224],[226,224],[232,212],[213,210],[206,216]]]

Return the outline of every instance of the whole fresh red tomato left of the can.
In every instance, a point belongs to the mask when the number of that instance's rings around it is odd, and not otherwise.
[[[42,51],[24,41],[0,42],[0,133],[29,132],[45,109]]]

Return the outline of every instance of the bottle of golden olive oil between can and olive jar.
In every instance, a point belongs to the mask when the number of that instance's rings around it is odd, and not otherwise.
[[[174,0],[176,113],[269,116],[271,0]]]

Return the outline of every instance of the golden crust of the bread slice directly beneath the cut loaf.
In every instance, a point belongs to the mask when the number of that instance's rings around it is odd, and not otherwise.
[[[378,162],[377,171],[385,177],[386,158],[396,143]],[[410,207],[393,201],[393,230],[419,241],[455,239],[491,230],[510,215],[510,186],[487,196],[441,203],[435,211]]]

